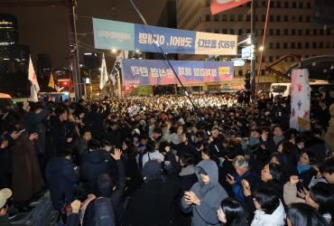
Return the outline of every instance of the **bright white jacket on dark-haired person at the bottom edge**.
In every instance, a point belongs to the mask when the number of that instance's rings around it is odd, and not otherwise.
[[[285,211],[282,202],[272,214],[266,214],[263,211],[255,211],[255,216],[251,226],[284,226]]]

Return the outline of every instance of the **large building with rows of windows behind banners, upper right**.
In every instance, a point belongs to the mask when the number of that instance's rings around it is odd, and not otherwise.
[[[177,21],[179,29],[207,33],[226,33],[239,35],[239,42],[246,40],[251,33],[251,4],[241,5],[220,14],[210,14],[210,0],[177,0]],[[255,0],[255,35],[257,62],[261,50],[264,60],[260,71],[261,82],[274,82],[277,76],[268,76],[265,67],[285,54],[293,53],[301,58],[315,55],[326,55],[334,52],[334,30],[323,29],[312,23],[315,0],[275,0],[271,2],[266,42],[261,46],[264,34],[264,21],[267,1]],[[241,54],[241,50],[238,51]],[[179,55],[180,60],[202,60],[205,55]],[[219,61],[228,61],[239,56],[218,56]],[[290,59],[286,65],[292,64]],[[256,63],[256,71],[257,71]],[[235,80],[229,83],[244,81],[250,70],[249,62],[244,67],[235,67]],[[256,72],[257,74],[257,72]],[[228,82],[223,82],[228,83]],[[200,84],[199,84],[200,85]],[[220,84],[221,86],[222,84]],[[209,85],[210,86],[210,85]],[[211,84],[211,86],[217,86]],[[206,87],[205,89],[209,89]]]

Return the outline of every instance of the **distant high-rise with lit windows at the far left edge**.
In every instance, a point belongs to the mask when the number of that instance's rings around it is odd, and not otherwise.
[[[14,45],[19,42],[17,19],[11,14],[0,14],[0,58],[11,59]]]

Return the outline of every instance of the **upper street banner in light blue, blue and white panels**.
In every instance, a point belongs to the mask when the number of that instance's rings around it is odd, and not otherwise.
[[[183,54],[237,55],[237,35],[200,33],[93,18],[95,48]],[[156,42],[154,42],[156,41]]]

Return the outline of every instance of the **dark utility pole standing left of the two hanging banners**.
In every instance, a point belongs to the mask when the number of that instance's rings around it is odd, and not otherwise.
[[[72,65],[73,88],[76,101],[82,99],[82,82],[79,67],[79,48],[77,41],[77,26],[75,17],[76,0],[66,0],[66,13],[69,29],[70,58]]]

